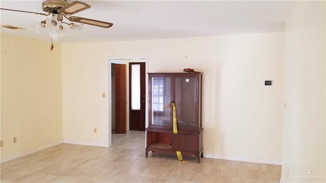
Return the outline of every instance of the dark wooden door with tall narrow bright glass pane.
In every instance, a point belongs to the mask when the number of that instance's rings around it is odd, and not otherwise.
[[[145,62],[129,63],[129,130],[145,131],[145,90]]]

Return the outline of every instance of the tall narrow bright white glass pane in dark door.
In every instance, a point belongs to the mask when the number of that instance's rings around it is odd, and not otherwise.
[[[141,110],[141,65],[131,65],[131,109]]]

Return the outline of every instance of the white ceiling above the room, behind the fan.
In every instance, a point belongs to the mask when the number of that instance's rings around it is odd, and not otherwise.
[[[285,20],[295,1],[83,1],[90,9],[73,16],[112,22],[105,29],[84,25],[75,33],[64,25],[62,43],[124,41],[199,37],[285,31]],[[68,1],[72,2],[72,1]],[[45,13],[42,1],[0,1],[1,8]],[[36,34],[32,21],[46,17],[30,13],[0,11],[1,25],[25,28],[1,32],[50,40],[49,32]],[[69,22],[69,21],[68,21]]]

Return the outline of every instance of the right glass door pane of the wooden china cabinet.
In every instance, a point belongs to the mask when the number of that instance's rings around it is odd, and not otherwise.
[[[196,127],[196,77],[175,77],[178,127]]]

